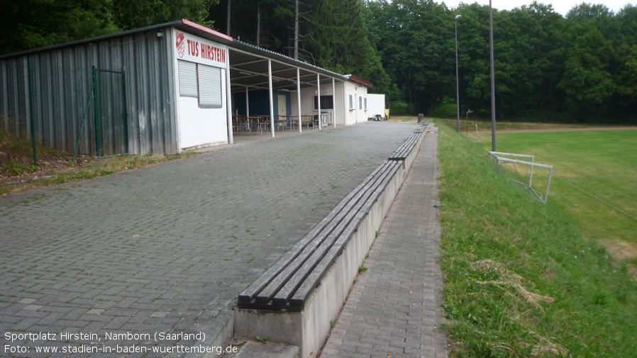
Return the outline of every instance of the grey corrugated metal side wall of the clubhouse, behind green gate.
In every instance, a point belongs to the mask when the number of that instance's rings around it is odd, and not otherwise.
[[[177,124],[170,31],[123,35],[0,59],[0,125],[31,138],[28,59],[38,144],[73,152],[92,85],[92,66],[126,72],[128,147],[131,154],[175,154]],[[95,155],[93,100],[80,152]]]

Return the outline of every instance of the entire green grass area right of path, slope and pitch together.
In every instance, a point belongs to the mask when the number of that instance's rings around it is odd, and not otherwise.
[[[593,240],[636,247],[637,130],[499,134],[555,165],[546,205],[494,174],[490,133],[439,135],[450,355],[637,358],[637,259]]]

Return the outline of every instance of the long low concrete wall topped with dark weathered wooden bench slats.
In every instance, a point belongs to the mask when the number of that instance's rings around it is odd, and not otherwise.
[[[374,242],[425,126],[343,198],[292,249],[238,295],[236,338],[270,337],[314,357],[338,319],[358,269]]]

